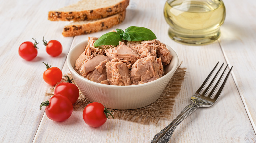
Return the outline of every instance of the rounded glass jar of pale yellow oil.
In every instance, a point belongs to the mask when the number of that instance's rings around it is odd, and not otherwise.
[[[167,0],[164,6],[169,36],[184,44],[202,45],[217,40],[225,16],[221,0]]]

